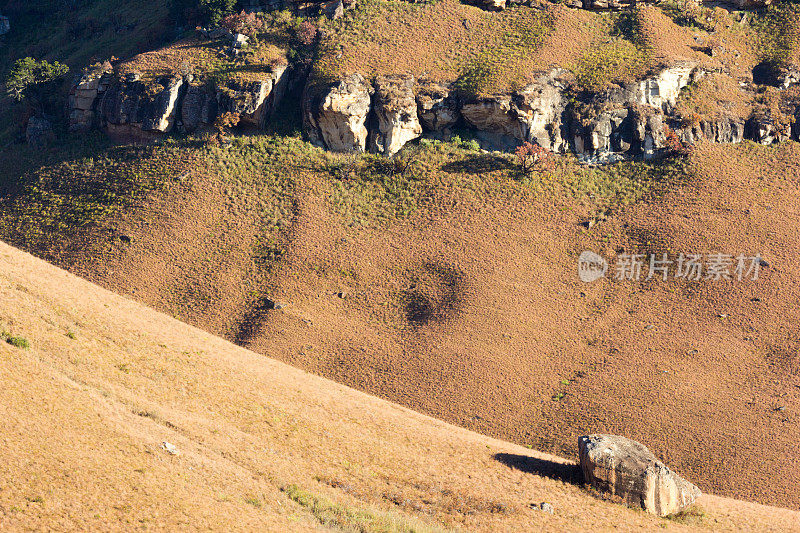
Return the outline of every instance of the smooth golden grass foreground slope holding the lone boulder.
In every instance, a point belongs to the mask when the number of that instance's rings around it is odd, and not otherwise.
[[[601,501],[570,461],[248,352],[5,244],[0,293],[4,331],[30,344],[0,344],[4,530],[798,524],[795,512],[714,496],[675,519]],[[553,515],[532,509],[542,501]]]

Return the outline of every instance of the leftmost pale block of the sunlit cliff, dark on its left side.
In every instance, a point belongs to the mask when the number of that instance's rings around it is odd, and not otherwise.
[[[303,98],[303,125],[311,142],[335,152],[364,152],[372,86],[361,74],[346,76]]]

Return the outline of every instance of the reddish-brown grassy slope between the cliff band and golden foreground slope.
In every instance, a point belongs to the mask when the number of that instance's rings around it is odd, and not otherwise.
[[[797,286],[786,240],[797,145],[705,146],[688,165],[563,159],[522,177],[509,156],[459,143],[427,145],[403,174],[277,134],[137,149],[115,175],[160,187],[124,210],[88,210],[97,216],[81,239],[52,224],[71,211],[48,218],[76,193],[56,203],[40,191],[66,169],[60,183],[78,191],[103,174],[58,163],[8,200],[7,221],[41,207],[3,239],[449,422],[566,456],[579,434],[622,433],[704,490],[797,506],[786,428],[798,416],[798,325],[781,307]],[[673,219],[689,222],[665,226]],[[584,249],[759,252],[781,266],[751,283],[585,285]]]

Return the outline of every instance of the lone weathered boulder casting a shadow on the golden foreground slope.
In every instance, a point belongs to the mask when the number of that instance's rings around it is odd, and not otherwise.
[[[694,503],[700,489],[671,471],[644,445],[616,435],[578,439],[584,481],[631,507],[668,516]]]

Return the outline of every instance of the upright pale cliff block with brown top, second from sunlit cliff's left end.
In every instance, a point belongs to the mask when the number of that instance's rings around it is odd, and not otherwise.
[[[378,76],[373,110],[371,151],[394,155],[408,141],[422,135],[412,76]]]

